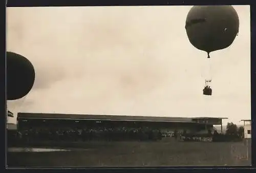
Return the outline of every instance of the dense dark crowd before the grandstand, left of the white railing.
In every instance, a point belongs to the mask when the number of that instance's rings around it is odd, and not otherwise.
[[[150,128],[30,128],[19,131],[17,137],[23,141],[127,141],[127,140],[161,140],[162,134],[159,129]]]

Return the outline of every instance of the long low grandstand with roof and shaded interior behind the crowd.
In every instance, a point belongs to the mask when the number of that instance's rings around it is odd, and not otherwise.
[[[226,118],[182,118],[119,115],[18,113],[18,129],[29,128],[90,128],[90,127],[151,127],[161,130],[201,131],[222,126]]]

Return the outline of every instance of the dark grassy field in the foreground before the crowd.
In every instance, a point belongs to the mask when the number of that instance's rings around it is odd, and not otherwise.
[[[41,144],[42,145],[42,144]],[[47,143],[43,144],[47,147]],[[11,153],[8,167],[223,166],[250,165],[244,142],[76,142],[70,152]],[[48,147],[50,145],[48,144]]]

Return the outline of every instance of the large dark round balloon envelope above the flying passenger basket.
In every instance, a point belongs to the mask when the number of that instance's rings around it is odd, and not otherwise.
[[[185,28],[191,44],[210,53],[232,44],[239,32],[239,17],[232,6],[194,6]]]

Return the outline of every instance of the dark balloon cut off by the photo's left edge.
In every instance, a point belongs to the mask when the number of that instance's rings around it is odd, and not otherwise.
[[[7,100],[26,96],[33,87],[35,70],[32,63],[22,55],[6,53]]]

